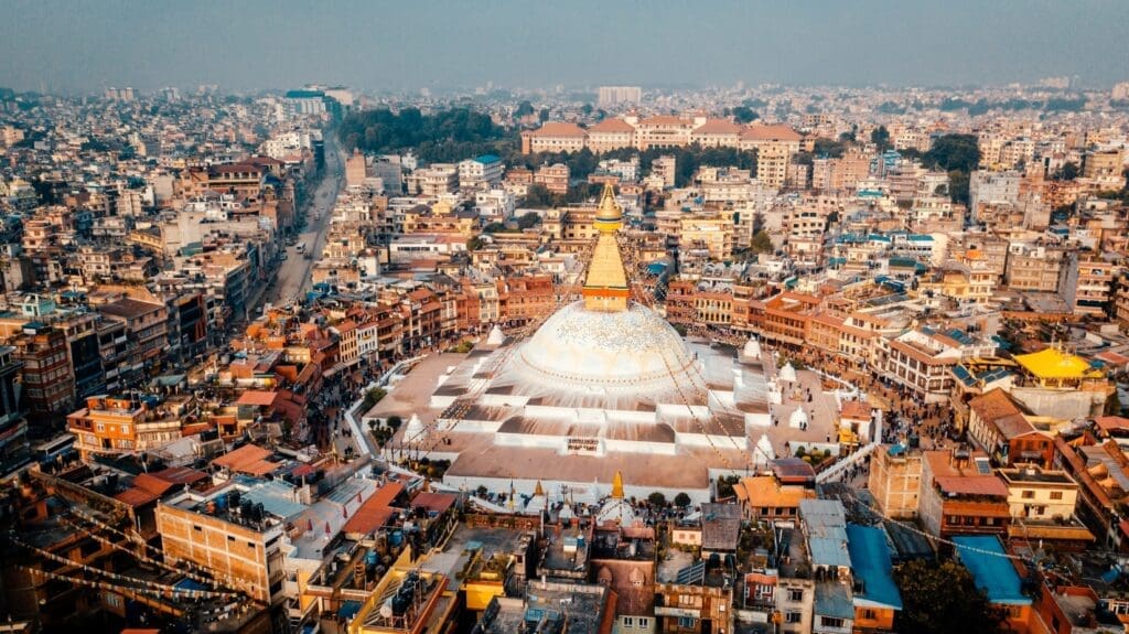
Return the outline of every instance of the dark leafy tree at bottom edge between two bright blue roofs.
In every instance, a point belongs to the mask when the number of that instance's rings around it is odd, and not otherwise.
[[[919,634],[996,634],[1001,632],[1000,614],[977,588],[968,569],[955,563],[940,565],[917,560],[894,570],[902,595],[899,632]]]

